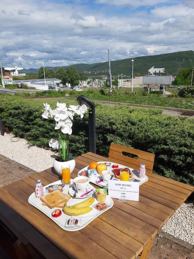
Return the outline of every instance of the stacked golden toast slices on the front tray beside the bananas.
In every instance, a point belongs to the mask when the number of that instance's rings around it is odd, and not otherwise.
[[[56,190],[56,191],[53,191],[52,193],[42,196],[41,201],[46,203],[46,205],[50,209],[52,209],[54,207],[57,207],[57,205],[59,205],[63,202],[65,202],[65,203],[68,202],[70,197],[71,196],[69,194],[63,194],[61,191]]]

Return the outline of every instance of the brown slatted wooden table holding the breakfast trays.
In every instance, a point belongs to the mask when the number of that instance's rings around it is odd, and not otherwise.
[[[77,157],[72,178],[92,161],[112,161],[87,153]],[[127,166],[127,163],[125,164]],[[58,180],[49,168],[0,189],[0,220],[41,258],[147,258],[155,235],[194,187],[153,173],[140,186],[139,202],[114,200],[114,206],[80,231],[64,231],[28,203],[35,180]],[[97,187],[97,186],[95,186]]]

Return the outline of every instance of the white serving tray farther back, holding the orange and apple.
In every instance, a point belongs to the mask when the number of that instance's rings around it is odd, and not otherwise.
[[[97,162],[97,163],[99,164],[99,163],[106,163],[106,162],[107,162],[107,161],[102,161],[102,162]],[[119,166],[119,168],[128,167],[128,166],[126,166],[126,165],[120,165],[120,164],[118,164],[118,163],[112,163],[112,162],[110,162],[110,163],[111,163],[111,165],[110,165],[110,166],[107,166],[107,170],[108,170],[108,171],[111,171],[112,174],[113,174],[112,165],[114,165],[114,164],[117,164],[117,165]],[[129,169],[131,170],[131,172],[133,173],[133,178],[135,178],[135,179],[137,179],[137,180],[140,180],[139,185],[143,184],[144,182],[147,182],[147,180],[148,180],[147,175],[146,175],[144,178],[139,178],[139,172],[138,172],[137,170],[135,170],[135,169],[133,169],[133,168],[130,168],[130,167],[128,167],[128,168],[129,168]],[[83,170],[88,170],[88,169],[89,169],[89,165],[86,166],[86,167],[84,167],[84,168],[83,168],[82,170],[80,170],[79,172],[81,172],[81,171],[83,171]],[[80,175],[79,175],[79,172],[78,172],[78,176],[80,176]],[[97,174],[97,179],[101,179],[101,180],[102,180],[102,176],[101,176],[100,174]],[[113,177],[112,180],[120,181],[120,179],[117,179],[117,178],[115,178],[115,177]],[[104,184],[103,182],[98,183],[97,180],[90,180],[90,182],[93,183],[93,184],[95,184],[95,185],[98,185],[98,186],[100,186],[100,187],[102,187],[102,188],[108,189],[108,186],[105,186],[105,184]]]

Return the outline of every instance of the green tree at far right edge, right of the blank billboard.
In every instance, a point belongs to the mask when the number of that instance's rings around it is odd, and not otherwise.
[[[192,68],[183,68],[178,71],[176,78],[174,79],[174,85],[190,85],[191,84],[191,72]]]

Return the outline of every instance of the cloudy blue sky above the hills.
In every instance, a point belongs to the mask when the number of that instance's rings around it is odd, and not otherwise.
[[[38,68],[194,50],[193,0],[1,0],[2,66]]]

